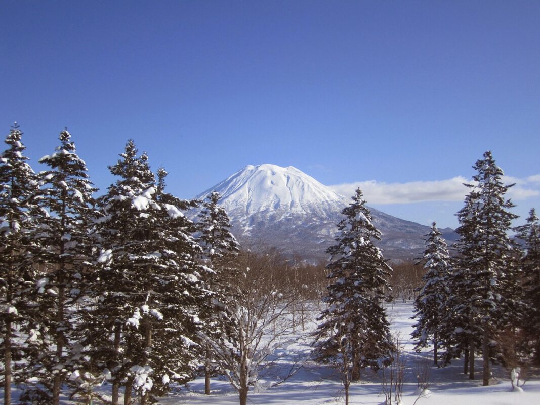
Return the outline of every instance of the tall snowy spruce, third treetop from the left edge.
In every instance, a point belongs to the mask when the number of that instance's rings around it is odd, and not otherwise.
[[[78,330],[88,359],[85,365],[81,365],[83,373],[92,370],[93,375],[106,377],[112,384],[113,405],[118,404],[120,383],[126,379],[130,367],[126,359],[129,335],[124,332],[124,327],[130,317],[126,297],[130,293],[128,275],[132,272],[127,268],[127,262],[124,267],[115,268],[109,262],[113,248],[129,245],[130,241],[136,244],[137,238],[128,233],[137,226],[133,218],[138,212],[130,211],[131,200],[135,197],[134,192],[140,193],[147,186],[139,179],[140,160],[131,140],[120,157],[116,165],[109,166],[111,173],[120,179],[97,201],[99,218],[93,232],[99,255],[95,257],[96,272],[89,278],[88,291],[89,301],[95,304],[83,307]],[[138,188],[134,191],[134,187]],[[126,394],[131,394],[131,382],[129,387]],[[126,397],[126,401],[131,400],[129,395]]]

